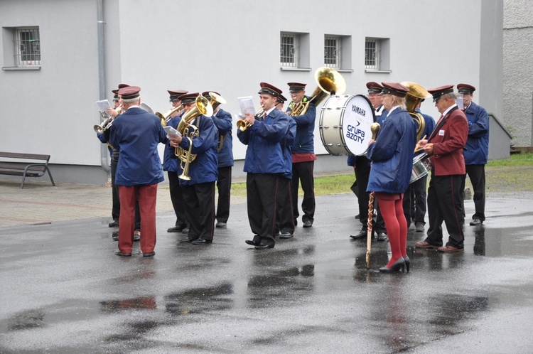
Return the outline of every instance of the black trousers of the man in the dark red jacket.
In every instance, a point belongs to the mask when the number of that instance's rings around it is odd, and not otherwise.
[[[428,189],[429,229],[426,242],[434,246],[443,245],[442,222],[448,230],[446,246],[463,248],[463,223],[461,214],[462,175],[431,176]]]

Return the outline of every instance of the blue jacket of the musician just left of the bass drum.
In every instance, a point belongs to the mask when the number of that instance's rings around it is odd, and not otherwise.
[[[311,100],[311,97],[304,96],[303,102]],[[291,112],[294,107],[294,102],[289,104],[287,112]],[[306,114],[301,116],[290,116],[296,122],[296,136],[294,137],[294,143],[292,146],[293,154],[306,154],[315,153],[314,137],[315,137],[315,119],[316,119],[316,106],[314,103],[310,103]]]

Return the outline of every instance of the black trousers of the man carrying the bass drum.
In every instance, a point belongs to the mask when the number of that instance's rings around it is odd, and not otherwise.
[[[357,188],[359,189],[359,198],[357,204],[359,205],[359,221],[362,224],[362,230],[368,228],[368,200],[370,200],[370,193],[367,193],[368,178],[370,177],[370,166],[368,166],[368,159],[365,156],[357,156],[355,158],[355,179],[357,180]],[[372,221],[372,230],[377,233],[387,233],[385,229],[385,222],[379,211],[379,205],[374,199],[374,209],[376,210],[376,220]]]

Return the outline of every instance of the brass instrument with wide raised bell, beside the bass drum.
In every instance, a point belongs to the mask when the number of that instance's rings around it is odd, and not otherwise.
[[[311,95],[311,100],[307,102],[298,102],[293,105],[291,112],[287,112],[289,116],[301,116],[306,114],[309,104],[313,103],[318,106],[328,95],[343,95],[346,90],[346,82],[344,78],[332,68],[318,68],[315,71],[315,81],[317,87]]]

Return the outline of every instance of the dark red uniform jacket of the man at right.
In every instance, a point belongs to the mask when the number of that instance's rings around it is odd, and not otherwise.
[[[468,120],[461,109],[451,109],[442,124],[437,124],[428,143],[433,144],[433,156],[429,159],[435,176],[465,174],[463,148],[468,138]]]

